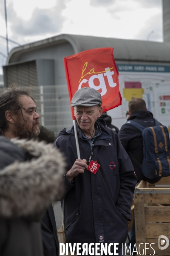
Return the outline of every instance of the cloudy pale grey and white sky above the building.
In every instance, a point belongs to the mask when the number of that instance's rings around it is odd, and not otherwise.
[[[161,0],[6,0],[8,38],[19,44],[59,34],[163,41]],[[154,31],[153,33],[151,33]],[[6,37],[4,0],[0,35]],[[16,47],[9,43],[9,50]],[[7,55],[0,38],[0,52]],[[0,74],[6,58],[0,55]]]

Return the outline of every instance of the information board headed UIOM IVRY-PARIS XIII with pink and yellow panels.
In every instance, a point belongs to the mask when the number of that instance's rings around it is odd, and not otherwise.
[[[120,128],[126,122],[128,102],[132,97],[139,97],[170,132],[170,66],[117,64],[117,68],[122,105],[108,111],[113,125]]]

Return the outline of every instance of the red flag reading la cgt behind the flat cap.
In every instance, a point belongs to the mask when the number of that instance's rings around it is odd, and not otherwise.
[[[64,66],[70,102],[78,89],[91,87],[101,93],[103,112],[122,104],[113,48],[91,49],[65,57]],[[75,119],[72,108],[71,113]]]

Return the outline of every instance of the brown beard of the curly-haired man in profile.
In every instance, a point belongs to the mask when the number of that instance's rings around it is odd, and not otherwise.
[[[30,128],[26,121],[24,121],[21,118],[18,117],[17,121],[14,124],[14,134],[15,137],[19,137],[20,139],[32,139],[34,137],[37,137],[40,134],[40,128],[38,125],[39,121],[38,119],[35,120],[32,124],[32,128]]]

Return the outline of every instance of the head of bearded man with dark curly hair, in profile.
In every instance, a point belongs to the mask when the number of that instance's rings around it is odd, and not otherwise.
[[[39,117],[28,88],[13,85],[0,94],[0,129],[5,137],[31,139],[38,136]]]

